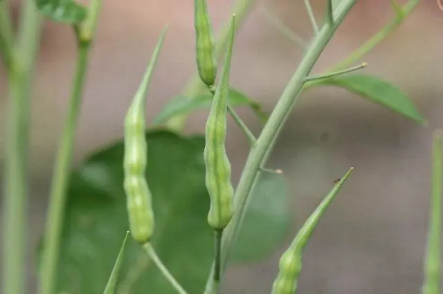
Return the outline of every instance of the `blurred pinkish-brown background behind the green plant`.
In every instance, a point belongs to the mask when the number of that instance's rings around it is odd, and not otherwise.
[[[402,4],[406,1],[398,0]],[[92,150],[123,135],[127,105],[165,23],[170,30],[150,89],[147,113],[154,117],[195,73],[192,0],[104,1],[75,144],[75,164]],[[209,0],[218,28],[234,0]],[[311,0],[317,19],[326,1]],[[302,51],[260,12],[266,4],[298,35],[311,27],[302,0],[257,1],[237,33],[231,81],[270,111],[296,70]],[[15,7],[17,8],[17,7]],[[323,53],[314,72],[346,57],[394,17],[390,1],[360,0]],[[362,61],[410,95],[428,126],[336,88],[303,93],[269,161],[289,185],[295,223],[286,242],[260,263],[233,266],[224,293],[269,293],[278,258],[300,222],[350,166],[355,170],[307,246],[300,293],[419,293],[428,222],[431,133],[443,126],[443,11],[423,0],[386,41]],[[44,225],[55,148],[71,90],[75,43],[67,26],[46,22],[35,87],[31,139],[29,281],[35,282],[34,249]],[[6,114],[6,75],[0,73],[0,116]],[[260,122],[239,110],[258,132]],[[186,133],[201,133],[207,112],[188,119]],[[5,142],[0,124],[0,147]],[[248,144],[229,122],[228,153],[235,181]],[[0,154],[0,162],[3,152]]]

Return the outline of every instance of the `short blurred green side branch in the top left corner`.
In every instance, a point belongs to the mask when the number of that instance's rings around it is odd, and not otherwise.
[[[0,54],[8,72],[12,71],[14,36],[8,2],[0,1]]]

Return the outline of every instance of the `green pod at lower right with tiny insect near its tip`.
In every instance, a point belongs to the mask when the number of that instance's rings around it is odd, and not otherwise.
[[[314,228],[316,228],[318,222],[320,222],[320,218],[332,203],[332,200],[334,200],[335,196],[338,194],[338,191],[341,189],[341,186],[343,186],[353,169],[354,168],[350,168],[350,170],[347,171],[343,178],[334,186],[334,188],[332,188],[325,199],[323,199],[323,202],[317,206],[314,213],[309,216],[305,224],[303,224],[302,228],[300,228],[300,231],[298,231],[298,234],[296,235],[296,238],[293,239],[291,246],[289,246],[287,251],[285,251],[282,257],[280,257],[278,266],[280,271],[278,272],[278,276],[275,278],[273,283],[272,294],[296,293],[298,276],[302,270],[302,251],[314,232]]]

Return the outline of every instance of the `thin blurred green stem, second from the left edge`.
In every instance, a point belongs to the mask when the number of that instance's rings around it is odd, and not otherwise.
[[[64,205],[66,200],[66,188],[68,186],[75,129],[82,102],[84,81],[86,79],[90,44],[90,41],[78,40],[78,59],[73,81],[73,91],[71,92],[71,97],[69,99],[68,115],[64,122],[62,139],[60,141],[55,161],[44,232],[41,294],[53,294],[55,288],[57,263],[60,251],[60,234],[62,231]]]

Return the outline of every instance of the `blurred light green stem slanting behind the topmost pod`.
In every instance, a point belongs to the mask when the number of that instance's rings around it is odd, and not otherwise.
[[[238,30],[239,26],[242,26],[244,19],[248,12],[251,10],[254,0],[237,0],[233,8],[232,14],[235,14],[235,30]],[[226,44],[228,43],[230,30],[230,19],[226,21],[223,28],[219,32],[219,37],[215,42],[215,56],[220,58],[224,54]],[[207,86],[201,82],[198,73],[190,79],[189,83],[183,89],[183,99],[194,99],[200,92],[206,90]],[[186,115],[178,115],[167,121],[166,125],[172,130],[181,130],[186,124]]]

